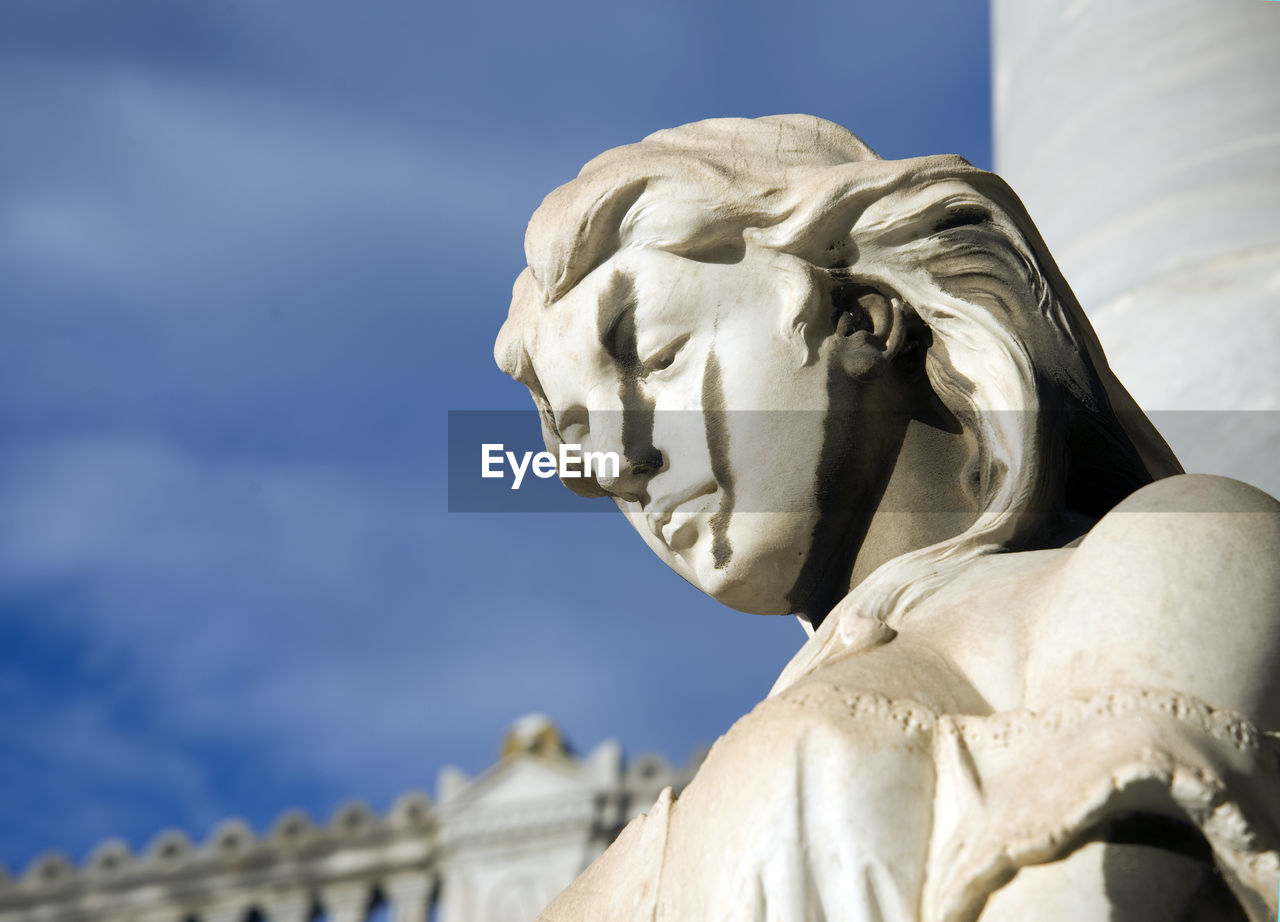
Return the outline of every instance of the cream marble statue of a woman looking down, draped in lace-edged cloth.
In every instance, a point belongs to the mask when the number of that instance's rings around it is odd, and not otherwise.
[[[566,485],[810,633],[541,918],[1276,918],[1280,503],[1181,473],[998,177],[713,119],[526,255],[498,362],[623,458]]]

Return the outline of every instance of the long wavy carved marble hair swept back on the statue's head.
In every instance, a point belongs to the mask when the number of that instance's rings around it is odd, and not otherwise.
[[[620,250],[732,263],[780,254],[785,323],[813,360],[833,287],[897,292],[929,328],[925,374],[975,437],[978,520],[888,561],[850,597],[895,620],[964,562],[1033,546],[1068,510],[1101,515],[1180,469],[1111,375],[1093,329],[1018,201],[957,156],[881,160],[806,115],[712,119],[607,151],[552,192],[525,237],[495,356],[549,407],[525,324]],[[826,318],[822,316],[826,312]]]

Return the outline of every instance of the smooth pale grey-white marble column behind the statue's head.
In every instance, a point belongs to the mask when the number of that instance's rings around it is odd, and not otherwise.
[[[1280,414],[1238,412],[1280,410],[1280,3],[992,0],[992,33],[996,170],[1116,375],[1188,470],[1280,492]]]

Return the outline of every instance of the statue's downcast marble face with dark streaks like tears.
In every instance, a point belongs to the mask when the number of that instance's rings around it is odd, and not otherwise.
[[[778,259],[617,254],[541,311],[530,346],[562,439],[625,458],[599,484],[649,547],[754,613],[803,608],[815,548],[860,534],[870,485],[850,476],[851,382],[827,344],[805,364]]]

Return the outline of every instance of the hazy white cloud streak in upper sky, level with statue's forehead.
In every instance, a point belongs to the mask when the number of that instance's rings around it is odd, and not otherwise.
[[[526,216],[512,186],[530,158],[497,136],[102,63],[18,58],[0,79],[26,114],[3,163],[3,248],[23,271],[78,274],[134,307],[182,310],[175,292],[296,273],[381,237],[429,248],[518,234]]]

